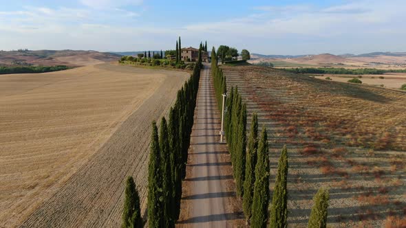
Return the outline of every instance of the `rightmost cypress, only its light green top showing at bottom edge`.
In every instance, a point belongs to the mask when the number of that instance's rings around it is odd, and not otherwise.
[[[310,214],[308,227],[325,228],[327,226],[328,200],[330,196],[328,190],[320,188],[313,197],[313,207]]]

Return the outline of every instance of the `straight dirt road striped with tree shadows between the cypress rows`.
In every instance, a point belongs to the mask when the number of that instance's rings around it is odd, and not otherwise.
[[[219,132],[220,113],[213,78],[206,66],[197,95],[178,227],[242,224],[242,207],[235,196],[231,159],[226,144],[220,144]]]

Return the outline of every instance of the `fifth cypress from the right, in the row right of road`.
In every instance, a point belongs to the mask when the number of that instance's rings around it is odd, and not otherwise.
[[[244,179],[246,165],[246,104],[242,105],[238,121],[238,133],[236,141],[237,150],[235,151],[235,185],[237,187],[237,196],[244,194]]]

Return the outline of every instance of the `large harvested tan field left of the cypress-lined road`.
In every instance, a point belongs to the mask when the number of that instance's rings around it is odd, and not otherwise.
[[[189,73],[95,65],[0,76],[0,227],[118,227],[145,208],[149,130]]]

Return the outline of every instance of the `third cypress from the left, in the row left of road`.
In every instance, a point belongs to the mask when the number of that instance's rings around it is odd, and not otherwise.
[[[162,117],[160,126],[160,155],[161,155],[161,170],[162,170],[162,198],[164,203],[164,223],[165,227],[174,227],[173,215],[173,194],[172,194],[172,174],[171,174],[171,158],[169,152],[169,135],[167,127],[167,119]]]

